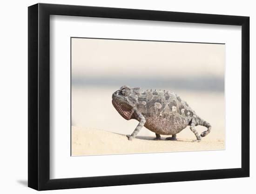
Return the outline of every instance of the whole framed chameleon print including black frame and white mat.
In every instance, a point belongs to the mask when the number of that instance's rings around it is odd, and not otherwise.
[[[28,186],[249,176],[249,17],[28,7]]]

